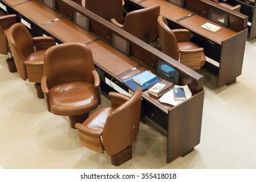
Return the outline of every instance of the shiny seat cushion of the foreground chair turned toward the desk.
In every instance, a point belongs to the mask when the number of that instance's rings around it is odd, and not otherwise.
[[[91,129],[103,131],[106,118],[112,110],[114,110],[113,107],[103,106],[93,112],[89,118],[84,123],[82,123],[82,125]]]

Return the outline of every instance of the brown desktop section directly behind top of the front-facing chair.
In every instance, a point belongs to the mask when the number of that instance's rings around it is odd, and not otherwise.
[[[46,24],[43,27],[61,42],[79,42],[86,44],[96,39],[95,36],[65,18]]]

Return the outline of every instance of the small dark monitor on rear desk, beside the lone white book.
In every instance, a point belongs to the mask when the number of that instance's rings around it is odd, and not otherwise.
[[[211,7],[208,19],[223,27],[227,27],[227,24],[229,23],[229,14],[223,10]]]

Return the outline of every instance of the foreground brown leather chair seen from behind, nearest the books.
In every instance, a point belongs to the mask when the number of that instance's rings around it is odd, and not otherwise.
[[[84,123],[75,127],[82,146],[111,156],[111,162],[120,166],[132,158],[132,144],[140,127],[142,91],[135,90],[131,98],[109,92],[111,106],[96,110]]]

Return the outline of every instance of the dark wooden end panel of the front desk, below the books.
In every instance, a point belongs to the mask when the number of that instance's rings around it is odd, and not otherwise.
[[[200,143],[204,90],[168,112],[167,163]]]

